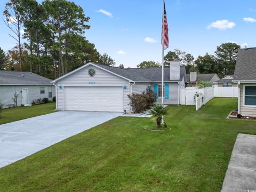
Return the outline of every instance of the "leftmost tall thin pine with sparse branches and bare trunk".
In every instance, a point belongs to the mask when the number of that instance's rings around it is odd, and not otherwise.
[[[12,38],[15,39],[19,47],[19,65],[20,71],[22,71],[22,59],[21,59],[21,29],[23,27],[23,7],[21,5],[21,0],[10,0],[5,4],[4,16],[6,21],[5,24],[12,31],[12,34],[9,34]]]

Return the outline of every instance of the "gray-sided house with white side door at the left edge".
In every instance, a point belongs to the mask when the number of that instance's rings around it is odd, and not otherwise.
[[[0,70],[0,103],[4,108],[27,106],[33,100],[55,96],[52,80],[29,72]]]

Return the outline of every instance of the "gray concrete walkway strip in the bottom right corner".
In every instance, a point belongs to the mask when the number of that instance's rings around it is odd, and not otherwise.
[[[256,191],[256,135],[237,135],[221,191]]]

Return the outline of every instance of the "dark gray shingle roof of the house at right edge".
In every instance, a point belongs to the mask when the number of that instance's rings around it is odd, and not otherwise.
[[[256,81],[256,47],[238,51],[234,79]]]

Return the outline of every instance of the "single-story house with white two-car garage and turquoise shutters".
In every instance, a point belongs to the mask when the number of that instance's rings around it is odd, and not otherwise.
[[[186,70],[179,61],[164,68],[164,104],[179,104],[179,89],[185,87]],[[162,68],[109,67],[95,63],[86,65],[55,79],[58,110],[131,111],[127,95],[141,93],[151,87],[162,98]]]

